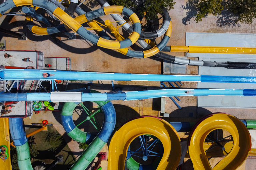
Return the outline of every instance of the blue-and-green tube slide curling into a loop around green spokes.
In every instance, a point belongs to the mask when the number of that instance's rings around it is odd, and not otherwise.
[[[86,90],[90,93],[99,93],[95,90]],[[85,92],[86,92],[85,91]],[[79,103],[66,102],[62,108],[61,121],[63,128],[68,135],[79,142],[90,142],[91,144],[85,149],[79,159],[72,165],[70,170],[84,170],[93,161],[95,156],[100,152],[102,147],[107,143],[116,125],[116,112],[113,104],[110,101],[95,101],[104,114],[104,122],[100,132],[95,135],[92,133],[83,132],[78,129],[72,119],[73,110]]]

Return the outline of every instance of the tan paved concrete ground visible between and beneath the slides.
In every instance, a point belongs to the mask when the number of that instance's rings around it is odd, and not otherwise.
[[[87,1],[86,1],[87,2]],[[86,4],[86,2],[84,4]],[[172,20],[172,35],[167,45],[185,45],[186,32],[207,32],[207,33],[247,33],[256,34],[256,22],[251,25],[239,24],[239,26],[220,27],[218,25],[219,18],[215,16],[208,16],[200,23],[196,23],[191,18],[193,10],[188,10],[188,0],[175,0],[176,4],[169,14]],[[99,8],[95,5],[94,8]],[[10,12],[19,10],[13,9]],[[87,12],[90,10],[86,8]],[[189,20],[191,18],[191,20]],[[101,20],[109,19],[108,16],[101,17]],[[86,25],[84,25],[87,27]],[[91,44],[84,40],[79,35],[76,40],[67,40],[61,37],[62,35],[35,35],[32,34],[25,26],[24,16],[2,16],[0,18],[0,27],[6,28],[15,32],[27,33],[27,41],[18,41],[17,38],[5,37],[3,33],[0,34],[0,42],[6,40],[6,49],[15,50],[38,50],[44,52],[45,57],[70,57],[72,59],[72,70],[79,71],[98,71],[98,72],[119,72],[119,73],[144,73],[144,74],[161,74],[162,60],[149,58],[130,58],[116,50],[106,49]],[[92,31],[93,32],[93,31]],[[158,41],[158,40],[157,40]],[[182,52],[167,52],[175,56],[184,56]],[[0,63],[5,65],[5,63]],[[188,75],[197,75],[196,66],[188,66]],[[115,81],[115,87],[121,86],[126,90],[143,90],[159,87],[159,82],[125,82]],[[69,84],[69,86],[71,83]],[[129,86],[129,87],[128,87]],[[197,83],[184,82],[184,88],[195,88]],[[110,91],[110,82],[93,82],[91,88],[101,92]],[[104,90],[102,90],[104,89]],[[199,118],[209,113],[225,112],[235,115],[239,119],[256,119],[255,109],[218,109],[218,108],[197,108],[196,97],[180,97],[181,101],[178,104],[182,107],[179,110],[174,103],[166,98],[166,112],[170,113],[167,121],[177,122],[196,122]],[[142,103],[142,111],[140,104]],[[143,101],[113,101],[117,113],[117,126],[120,126],[125,121],[139,115],[159,116],[159,101],[157,99],[146,99]],[[30,118],[25,118],[24,123],[31,125],[31,123],[40,123],[43,120],[48,120],[49,123],[54,124],[55,128],[64,134],[64,129],[60,124],[60,113],[41,112],[38,115],[33,115]],[[187,133],[179,133],[180,137],[186,138]],[[78,157],[82,150],[78,148],[75,141],[68,143],[70,149]],[[102,149],[102,152],[107,152],[107,145]],[[95,161],[97,158],[95,158]],[[95,162],[94,161],[94,162]],[[213,161],[213,162],[212,162]],[[212,164],[216,163],[217,159],[211,159]],[[255,169],[255,160],[247,159],[240,169]],[[103,169],[107,169],[107,161],[102,161]],[[88,167],[87,169],[91,169]],[[185,159],[183,169],[193,169],[191,161]]]

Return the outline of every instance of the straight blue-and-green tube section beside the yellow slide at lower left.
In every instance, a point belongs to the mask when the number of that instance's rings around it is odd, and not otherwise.
[[[11,138],[17,150],[20,170],[33,170],[28,146],[28,138],[23,128],[22,118],[9,118]]]

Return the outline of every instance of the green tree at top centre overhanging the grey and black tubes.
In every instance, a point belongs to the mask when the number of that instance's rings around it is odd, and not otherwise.
[[[137,9],[138,16],[146,17],[147,21],[154,20],[157,18],[157,13],[162,13],[162,8],[165,7],[167,10],[173,9],[175,2],[173,0],[143,0],[142,5],[136,4],[134,0],[109,0],[110,5],[119,5],[127,8]]]

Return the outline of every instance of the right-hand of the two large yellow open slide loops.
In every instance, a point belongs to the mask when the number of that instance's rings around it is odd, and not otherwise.
[[[204,141],[209,132],[225,129],[233,137],[233,148],[217,165],[211,168],[204,150]],[[238,168],[247,158],[251,150],[251,136],[245,125],[236,117],[215,113],[201,118],[190,131],[188,153],[194,169],[233,170]]]

